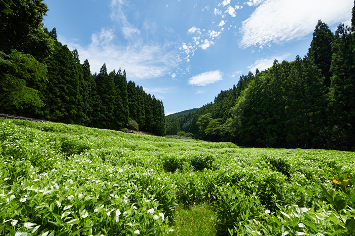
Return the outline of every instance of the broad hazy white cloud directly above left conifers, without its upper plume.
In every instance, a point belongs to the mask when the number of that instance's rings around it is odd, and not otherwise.
[[[62,39],[70,50],[78,49],[79,58],[83,62],[88,59],[92,73],[99,72],[105,62],[108,71],[126,70],[129,80],[142,80],[163,76],[176,67],[175,53],[166,52],[159,45],[136,45],[123,47],[114,43],[113,30],[102,29],[100,33],[92,34],[91,43],[82,47],[76,43]]]

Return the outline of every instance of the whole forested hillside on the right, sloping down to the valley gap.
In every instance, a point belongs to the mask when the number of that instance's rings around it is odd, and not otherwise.
[[[242,146],[355,150],[354,50],[355,8],[351,26],[339,24],[335,33],[319,20],[304,58],[275,60],[213,103],[167,116],[167,133],[177,127]]]

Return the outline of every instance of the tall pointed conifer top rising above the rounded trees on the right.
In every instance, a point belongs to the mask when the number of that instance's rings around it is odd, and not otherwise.
[[[333,38],[334,34],[328,25],[319,20],[315,26],[313,39],[307,54],[308,58],[322,70],[325,77],[324,84],[327,87],[330,86],[330,77],[332,76],[330,65],[332,62]]]

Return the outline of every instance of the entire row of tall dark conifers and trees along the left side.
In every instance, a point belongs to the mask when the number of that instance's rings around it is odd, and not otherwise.
[[[165,136],[162,101],[147,94],[126,71],[91,74],[77,50],[44,28],[43,1],[0,3],[0,112],[67,124]]]

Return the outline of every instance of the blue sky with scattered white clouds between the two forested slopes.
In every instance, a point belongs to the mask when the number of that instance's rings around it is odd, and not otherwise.
[[[239,76],[307,54],[318,19],[350,25],[352,0],[45,0],[45,27],[91,72],[121,67],[165,114],[214,101]]]

